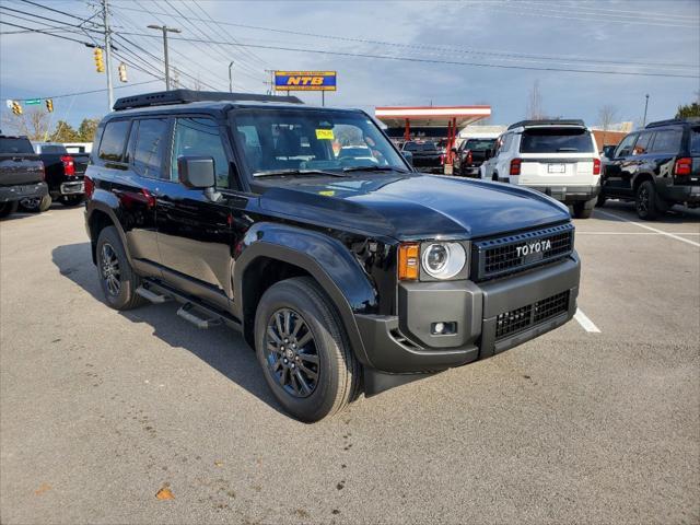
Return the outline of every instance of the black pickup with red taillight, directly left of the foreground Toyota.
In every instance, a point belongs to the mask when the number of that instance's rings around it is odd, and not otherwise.
[[[81,203],[85,195],[83,177],[90,154],[69,153],[63,144],[55,142],[35,142],[33,145],[44,162],[50,198],[63,206]],[[31,208],[24,201],[22,206]]]

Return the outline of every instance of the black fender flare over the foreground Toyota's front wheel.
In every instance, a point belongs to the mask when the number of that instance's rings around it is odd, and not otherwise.
[[[256,259],[268,257],[308,272],[336,305],[351,348],[365,365],[372,365],[360,336],[355,313],[372,313],[376,290],[360,262],[338,240],[296,226],[258,223],[245,235],[233,268],[234,315],[244,319],[243,276]]]

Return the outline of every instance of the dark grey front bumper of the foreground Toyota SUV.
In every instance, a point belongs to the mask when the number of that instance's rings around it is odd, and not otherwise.
[[[574,252],[549,266],[478,284],[401,283],[398,316],[355,315],[369,364],[392,374],[431,373],[513,348],[573,317],[580,275]],[[455,334],[432,335],[431,326],[441,322],[455,323]]]

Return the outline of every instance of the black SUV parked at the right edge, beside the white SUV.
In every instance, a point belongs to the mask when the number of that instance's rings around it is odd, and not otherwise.
[[[633,200],[641,219],[700,206],[700,119],[662,120],[622,139],[604,163],[598,206]]]

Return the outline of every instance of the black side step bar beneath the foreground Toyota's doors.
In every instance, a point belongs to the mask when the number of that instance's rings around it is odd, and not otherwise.
[[[143,284],[136,290],[136,293],[154,304],[162,304],[170,300],[182,303],[183,306],[177,311],[177,315],[197,328],[207,329],[223,323],[236,330],[243,329],[238,319],[229,312],[209,306],[191,295],[153,279],[143,279]]]

